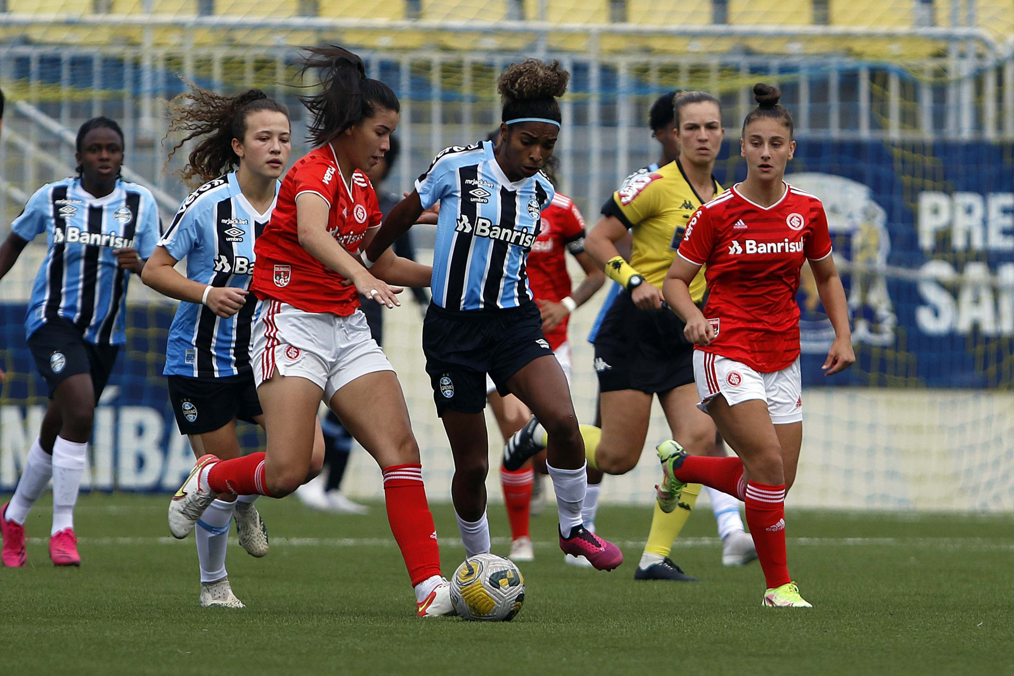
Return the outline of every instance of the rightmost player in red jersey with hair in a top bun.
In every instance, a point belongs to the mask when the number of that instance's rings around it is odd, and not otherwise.
[[[743,121],[740,140],[746,179],[697,210],[663,285],[697,346],[698,405],[738,457],[690,456],[664,442],[658,504],[671,512],[691,482],[744,501],[768,583],[764,605],[808,608],[789,577],[785,550],[785,494],[803,436],[796,291],[804,260],[835,328],[825,375],[849,368],[856,356],[823,205],[783,180],[796,148],[792,116],[776,87],[758,83],[753,94],[757,107]],[[709,289],[703,312],[689,288],[701,266]]]

